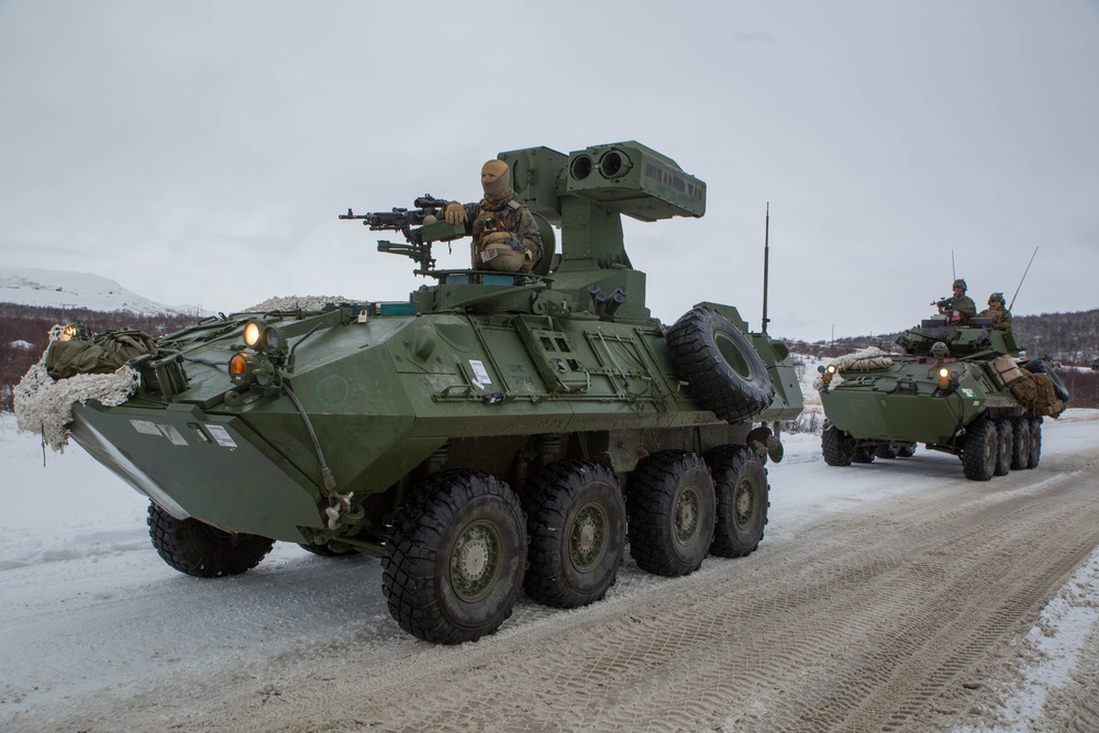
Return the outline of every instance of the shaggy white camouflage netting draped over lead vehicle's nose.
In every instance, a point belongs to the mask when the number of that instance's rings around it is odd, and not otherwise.
[[[57,341],[64,330],[63,325],[51,329],[49,342]],[[15,425],[21,431],[42,435],[43,443],[64,453],[69,438],[67,425],[73,422],[73,406],[88,400],[106,407],[122,404],[137,390],[141,376],[123,366],[113,374],[80,374],[54,381],[46,371],[46,352],[15,386]]]

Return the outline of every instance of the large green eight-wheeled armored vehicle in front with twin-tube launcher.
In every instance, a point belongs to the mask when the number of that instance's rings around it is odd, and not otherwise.
[[[665,576],[756,548],[764,464],[801,411],[788,349],[731,306],[663,325],[623,245],[622,214],[701,216],[706,185],[633,142],[499,159],[541,229],[533,271],[436,269],[432,244],[465,232],[431,197],[348,212],[403,232],[378,247],[426,278],[409,300],[207,320],[129,360],[125,401],[74,407],[171,567],[243,573],[274,541],[376,555],[397,622],[460,643],[520,588],[599,600],[628,540]]]

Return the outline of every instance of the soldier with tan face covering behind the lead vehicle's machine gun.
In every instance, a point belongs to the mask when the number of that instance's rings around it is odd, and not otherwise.
[[[448,224],[465,224],[473,234],[474,269],[530,273],[542,258],[542,234],[523,200],[511,188],[511,168],[503,160],[481,167],[485,198],[478,203],[447,202]]]

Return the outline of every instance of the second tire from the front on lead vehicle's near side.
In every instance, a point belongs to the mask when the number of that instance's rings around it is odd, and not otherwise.
[[[625,501],[613,471],[588,460],[551,464],[532,481],[526,507],[526,595],[567,609],[606,596],[625,552]]]

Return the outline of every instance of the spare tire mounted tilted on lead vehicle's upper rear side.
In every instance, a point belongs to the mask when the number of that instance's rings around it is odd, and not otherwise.
[[[753,418],[775,399],[767,367],[752,342],[729,319],[695,308],[668,331],[668,349],[691,397],[720,419]]]

